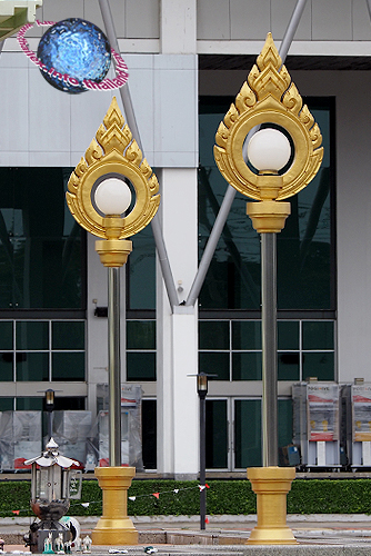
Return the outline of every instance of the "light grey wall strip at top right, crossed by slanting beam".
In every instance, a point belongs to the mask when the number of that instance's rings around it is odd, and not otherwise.
[[[199,0],[198,39],[282,39],[297,0]],[[308,0],[295,40],[370,40],[365,0]]]

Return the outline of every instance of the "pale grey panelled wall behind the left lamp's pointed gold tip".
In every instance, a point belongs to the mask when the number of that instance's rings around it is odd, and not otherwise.
[[[195,167],[195,56],[130,54],[126,61],[149,163]],[[96,136],[113,95],[122,109],[118,90],[81,95],[56,90],[22,52],[6,51],[0,56],[0,90],[7,107],[0,136],[3,166],[76,166]]]

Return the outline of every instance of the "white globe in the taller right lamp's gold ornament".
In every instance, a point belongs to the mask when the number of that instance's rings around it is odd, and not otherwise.
[[[290,156],[290,141],[278,129],[260,129],[248,145],[249,160],[259,171],[278,172],[289,162]]]

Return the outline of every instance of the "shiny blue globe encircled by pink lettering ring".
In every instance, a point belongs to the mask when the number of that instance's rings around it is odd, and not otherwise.
[[[100,83],[111,64],[111,47],[99,27],[83,19],[58,21],[42,36],[37,56],[42,77],[69,93],[89,90],[84,81]]]

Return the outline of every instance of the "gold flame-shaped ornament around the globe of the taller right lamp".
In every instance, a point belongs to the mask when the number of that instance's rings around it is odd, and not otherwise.
[[[284,128],[294,147],[290,168],[269,191],[261,187],[261,176],[250,170],[242,155],[249,131],[263,123]],[[235,102],[220,123],[215,142],[214,158],[219,170],[231,186],[251,199],[287,199],[303,189],[318,172],[323,157],[319,126],[282,66],[271,33],[248,76],[248,82],[242,85]]]

